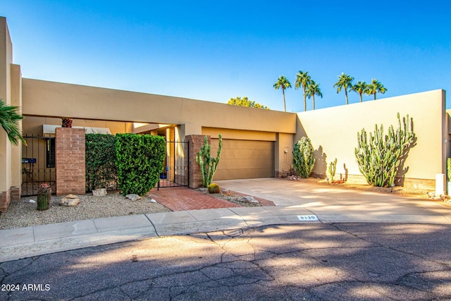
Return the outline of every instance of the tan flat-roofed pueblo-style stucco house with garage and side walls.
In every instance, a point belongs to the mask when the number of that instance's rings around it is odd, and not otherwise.
[[[6,18],[0,18],[0,98],[20,107],[24,135],[39,137],[26,147],[15,147],[0,129],[1,211],[23,195],[23,183],[30,178],[54,180],[55,128],[63,117],[73,118],[74,128],[89,133],[151,133],[167,141],[189,141],[189,153],[178,156],[187,157],[192,169],[189,185],[197,187],[194,154],[204,135],[217,147],[218,134],[223,137],[223,152],[215,180],[283,176],[292,168],[293,145],[303,136],[316,149],[315,176],[325,176],[326,164],[337,158],[338,174],[364,180],[354,156],[357,132],[372,131],[376,123],[396,126],[399,112],[413,118],[417,140],[400,168],[398,183],[433,188],[436,174],[446,173],[450,130],[444,90],[286,113],[22,78],[20,70],[26,66],[13,63],[12,49]],[[38,145],[44,145],[43,150],[35,152]],[[168,151],[168,162],[177,160],[169,152],[177,152],[175,147]],[[35,171],[38,162],[43,175]],[[187,167],[179,171],[184,172]]]

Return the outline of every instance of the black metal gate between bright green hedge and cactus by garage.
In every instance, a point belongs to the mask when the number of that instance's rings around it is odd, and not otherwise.
[[[190,185],[190,149],[188,142],[166,142],[166,159],[157,188]]]

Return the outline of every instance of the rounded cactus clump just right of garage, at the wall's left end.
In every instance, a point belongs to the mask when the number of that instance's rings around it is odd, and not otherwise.
[[[310,139],[302,137],[301,140],[296,142],[293,149],[293,167],[299,176],[309,178],[314,165],[315,157]]]

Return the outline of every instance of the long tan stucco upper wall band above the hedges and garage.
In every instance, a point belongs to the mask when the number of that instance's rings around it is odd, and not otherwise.
[[[27,78],[23,78],[23,113],[29,116],[187,124],[185,135],[198,135],[200,126],[281,133],[295,133],[296,130],[295,113]],[[197,133],[188,133],[191,128]]]

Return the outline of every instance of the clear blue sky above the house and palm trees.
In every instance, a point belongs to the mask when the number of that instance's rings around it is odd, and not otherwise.
[[[451,91],[450,11],[448,0],[0,0],[24,78],[283,110],[273,84],[285,75],[295,112],[299,70],[320,85],[316,109],[345,104],[333,88],[342,72],[377,78],[388,89],[378,98]]]

